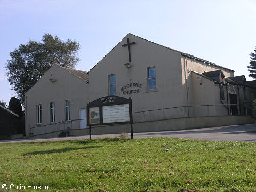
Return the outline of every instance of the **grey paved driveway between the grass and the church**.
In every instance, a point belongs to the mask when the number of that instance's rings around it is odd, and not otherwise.
[[[92,135],[93,138],[103,137],[118,137],[120,134],[106,134],[106,135]],[[131,134],[127,134],[129,137]],[[187,138],[198,140],[214,140],[214,141],[256,141],[256,126],[255,124],[248,125],[232,125],[201,129],[178,130],[178,131],[159,131],[159,132],[143,132],[133,133],[133,138],[146,137],[174,137]],[[89,136],[75,136],[75,137],[57,137],[44,139],[15,139],[4,140],[0,143],[13,142],[39,142],[39,141],[60,141],[60,140],[75,140],[88,139]]]

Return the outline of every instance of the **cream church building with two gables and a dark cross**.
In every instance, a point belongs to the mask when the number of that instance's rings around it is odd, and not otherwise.
[[[234,72],[129,33],[88,72],[53,64],[25,94],[26,135],[87,134],[87,103],[106,95],[132,98],[134,132],[250,123],[255,81]]]

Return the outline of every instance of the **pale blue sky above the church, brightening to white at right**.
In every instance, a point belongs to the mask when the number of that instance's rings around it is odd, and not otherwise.
[[[76,69],[89,71],[128,33],[235,70],[256,46],[255,0],[0,0],[0,101],[15,93],[6,78],[10,52],[44,33],[78,41]]]

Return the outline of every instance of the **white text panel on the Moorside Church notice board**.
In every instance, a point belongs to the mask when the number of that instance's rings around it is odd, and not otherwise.
[[[103,106],[103,123],[129,122],[129,104]]]

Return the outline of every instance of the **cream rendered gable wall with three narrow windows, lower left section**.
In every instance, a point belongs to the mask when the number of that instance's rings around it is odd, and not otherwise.
[[[52,74],[52,77],[51,77]],[[50,78],[57,81],[52,83]],[[58,65],[53,65],[39,81],[25,94],[26,101],[26,134],[29,128],[51,124],[50,103],[55,102],[56,122],[65,121],[65,100],[70,100],[71,119],[79,119],[79,108],[86,108],[89,102],[89,85]],[[37,124],[36,105],[42,105],[42,124]],[[63,125],[62,125],[63,127]],[[79,122],[73,123],[73,129],[79,128]],[[59,127],[61,128],[61,127]],[[54,125],[44,127],[44,132],[54,130]],[[34,134],[42,129],[34,129]]]

